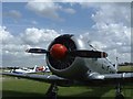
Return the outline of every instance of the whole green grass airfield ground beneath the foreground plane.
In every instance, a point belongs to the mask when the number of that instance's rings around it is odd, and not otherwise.
[[[132,70],[133,67],[122,67],[121,70]],[[14,97],[40,97],[44,98],[49,84],[28,79],[17,79],[3,76],[2,78],[2,99]],[[109,87],[59,87],[58,97],[89,98],[92,99],[114,99],[115,85]],[[123,86],[125,99],[133,99],[133,84]]]

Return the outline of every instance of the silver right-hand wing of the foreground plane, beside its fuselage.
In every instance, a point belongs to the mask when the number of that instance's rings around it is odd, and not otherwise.
[[[96,82],[102,82],[102,84],[116,84],[116,82],[122,82],[122,84],[127,84],[127,82],[133,82],[133,73],[121,73],[121,74],[104,74],[104,75],[99,75],[99,74],[91,74],[88,76],[88,80],[96,80]]]

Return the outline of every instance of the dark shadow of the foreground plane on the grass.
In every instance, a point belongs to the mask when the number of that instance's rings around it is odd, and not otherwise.
[[[75,94],[75,95],[70,95],[70,96],[61,96],[60,94],[58,95],[58,99],[60,98],[76,98],[76,99],[106,99],[106,97],[102,97],[104,96],[104,94],[109,92],[110,90],[112,90],[114,87],[84,87],[89,90],[86,91],[81,91],[80,94]],[[113,91],[114,96],[115,96],[115,91]],[[108,97],[108,99],[114,99],[113,97]],[[101,98],[102,97],[102,98]],[[37,92],[23,92],[23,91],[14,91],[14,90],[3,90],[2,91],[2,99],[19,99],[19,98],[34,98],[34,99],[39,99],[39,98],[43,98],[47,99],[45,96],[45,91],[44,94],[37,94]]]

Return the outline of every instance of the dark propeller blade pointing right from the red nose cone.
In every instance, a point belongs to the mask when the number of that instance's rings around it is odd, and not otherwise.
[[[86,57],[86,58],[105,58],[108,54],[99,51],[70,51],[71,56]]]

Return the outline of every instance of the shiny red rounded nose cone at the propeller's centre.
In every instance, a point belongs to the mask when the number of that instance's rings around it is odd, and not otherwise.
[[[53,58],[57,58],[57,59],[62,59],[65,57],[66,55],[66,52],[68,52],[68,48],[62,45],[62,44],[54,44],[51,48],[50,48],[50,55],[53,57]]]

